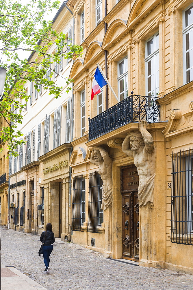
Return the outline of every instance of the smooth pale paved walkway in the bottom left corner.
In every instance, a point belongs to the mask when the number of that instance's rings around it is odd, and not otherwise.
[[[25,274],[1,260],[1,290],[47,290]]]

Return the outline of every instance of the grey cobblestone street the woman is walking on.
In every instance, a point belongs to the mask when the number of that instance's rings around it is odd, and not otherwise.
[[[51,271],[46,275],[43,257],[38,256],[39,238],[1,228],[1,258],[48,290],[193,289],[192,275],[121,263],[59,240],[54,244]]]

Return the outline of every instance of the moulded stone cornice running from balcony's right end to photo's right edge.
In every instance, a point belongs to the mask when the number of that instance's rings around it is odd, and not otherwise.
[[[169,104],[173,99],[178,98],[179,95],[190,90],[193,90],[193,81],[190,81],[190,83],[173,90],[172,92],[164,95],[164,97],[157,99],[157,101],[160,105]]]

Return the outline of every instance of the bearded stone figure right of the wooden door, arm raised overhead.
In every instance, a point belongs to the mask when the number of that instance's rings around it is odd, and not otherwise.
[[[138,128],[139,131],[131,131],[125,137],[125,140],[122,144],[122,151],[128,156],[133,156],[134,164],[138,169],[139,206],[145,206],[147,202],[150,202],[152,207],[154,204],[153,191],[155,179],[156,149],[154,147],[153,138],[147,131],[147,122],[140,120]]]

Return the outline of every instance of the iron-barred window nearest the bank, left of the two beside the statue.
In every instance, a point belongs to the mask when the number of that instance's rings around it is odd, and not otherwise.
[[[73,178],[72,230],[81,231],[85,222],[85,179],[82,175]]]

